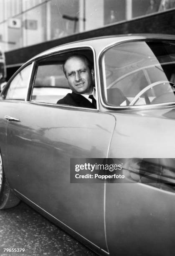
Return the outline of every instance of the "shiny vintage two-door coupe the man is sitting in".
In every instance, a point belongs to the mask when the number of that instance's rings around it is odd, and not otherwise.
[[[94,109],[57,104],[71,92],[62,64],[73,54],[94,64]],[[0,208],[23,200],[99,255],[173,255],[174,128],[175,36],[38,54],[0,94]],[[93,163],[118,169],[94,179],[83,170]]]

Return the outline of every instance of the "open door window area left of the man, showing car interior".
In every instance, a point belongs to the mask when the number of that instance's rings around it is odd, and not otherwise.
[[[62,64],[39,64],[33,86],[31,101],[55,103],[71,92],[63,74]]]

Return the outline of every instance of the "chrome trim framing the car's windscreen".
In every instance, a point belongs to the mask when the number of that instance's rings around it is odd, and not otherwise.
[[[112,109],[112,110],[129,110],[129,109],[154,109],[154,108],[164,108],[165,106],[175,106],[175,102],[166,102],[166,103],[158,103],[158,104],[152,104],[152,105],[136,105],[136,106],[111,106],[111,105],[108,105],[105,103],[104,101],[104,97],[102,95],[102,90],[103,90],[103,79],[104,79],[104,74],[102,72],[102,69],[100,71],[100,68],[102,67],[102,58],[105,54],[105,52],[107,50],[109,50],[110,48],[112,48],[113,46],[115,45],[119,45],[119,44],[123,44],[123,43],[126,43],[126,42],[134,42],[134,41],[172,41],[172,42],[175,42],[175,38],[162,38],[162,37],[151,37],[151,36],[148,36],[148,37],[142,37],[142,38],[122,38],[121,40],[117,41],[117,42],[113,42],[111,44],[108,44],[107,46],[105,46],[98,54],[97,56],[97,63],[98,63],[98,77],[99,77],[99,92],[100,92],[100,95],[99,95],[99,100],[101,101],[101,105],[104,107],[104,108],[107,108],[107,109]]]

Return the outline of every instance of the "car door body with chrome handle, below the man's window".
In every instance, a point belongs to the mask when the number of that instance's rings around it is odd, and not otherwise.
[[[46,66],[46,70],[51,68]],[[56,87],[49,88],[54,89],[53,98]],[[39,92],[40,102],[35,88],[31,101],[11,102],[16,119],[10,121],[7,131],[11,186],[61,225],[107,251],[104,184],[70,183],[70,159],[107,157],[114,117],[97,109],[44,103],[44,90]]]

